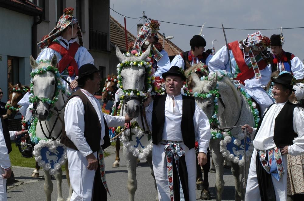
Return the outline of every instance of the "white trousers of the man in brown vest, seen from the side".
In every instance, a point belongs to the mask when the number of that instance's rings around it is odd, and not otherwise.
[[[94,155],[97,158],[97,152]],[[71,201],[91,201],[95,170],[88,170],[88,160],[74,149],[67,148],[67,160],[73,189]]]

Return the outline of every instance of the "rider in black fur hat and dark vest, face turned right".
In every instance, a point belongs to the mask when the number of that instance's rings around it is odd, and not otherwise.
[[[171,66],[178,66],[179,68],[186,70],[200,62],[208,65],[208,62],[213,55],[209,55],[204,52],[206,46],[205,39],[200,35],[195,35],[190,40],[190,46],[190,51],[185,51],[174,57],[171,61]]]

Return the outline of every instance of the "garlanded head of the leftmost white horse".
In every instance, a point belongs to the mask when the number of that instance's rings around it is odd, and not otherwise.
[[[59,79],[59,71],[57,69],[56,54],[52,57],[50,63],[41,61],[36,63],[34,58],[30,56],[30,64],[33,68],[31,72],[31,92],[33,96],[29,98],[33,103],[34,115],[39,120],[44,121],[50,115],[50,110],[58,101],[58,94],[61,89]]]

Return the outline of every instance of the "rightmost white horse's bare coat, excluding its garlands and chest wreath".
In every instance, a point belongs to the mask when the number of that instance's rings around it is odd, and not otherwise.
[[[187,74],[187,72],[186,72]],[[216,87],[219,88],[219,93],[222,101],[218,101],[218,120],[220,127],[232,127],[235,125],[249,124],[254,126],[254,117],[247,104],[246,98],[236,89],[234,84],[228,77],[223,77],[222,80],[217,80],[217,74],[212,80],[201,80],[196,73],[190,74],[191,83],[188,86],[192,87],[192,93],[207,93],[210,90],[214,90]],[[210,119],[214,114],[214,96],[209,98],[195,97],[196,103],[205,112],[207,117]],[[223,105],[224,104],[224,105]],[[232,135],[243,133],[240,127],[233,128],[231,130]],[[216,200],[222,200],[222,193],[224,190],[223,180],[223,163],[224,157],[220,152],[220,139],[210,140],[210,148],[212,149],[212,160],[216,169]],[[248,176],[250,160],[246,163],[246,178]],[[240,185],[240,171],[242,171],[242,178],[244,177],[244,166],[240,167],[236,163],[231,163],[231,171],[235,179],[235,200],[241,200],[244,196],[243,185]]]

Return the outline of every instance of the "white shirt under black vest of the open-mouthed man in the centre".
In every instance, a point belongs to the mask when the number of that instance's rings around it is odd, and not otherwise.
[[[178,110],[179,112],[177,113],[182,113],[182,97],[181,95],[179,96],[175,96],[175,110]],[[166,110],[170,110],[168,108],[172,107],[172,101],[171,98],[167,95],[166,97],[166,101],[165,101],[165,114],[166,115],[172,115],[169,112],[166,112]],[[148,107],[145,108],[146,111],[146,117],[147,117],[147,121],[149,125],[152,125],[152,109],[153,109],[153,101],[150,103],[150,105]],[[187,112],[187,111],[185,111]],[[166,118],[166,117],[165,117]],[[169,117],[170,118],[170,117]],[[173,117],[171,117],[171,119],[173,119]],[[166,122],[166,124],[174,124],[174,125],[170,125],[170,127],[180,127],[180,123],[176,123],[176,122]],[[204,152],[207,153],[207,148],[209,146],[209,141],[211,138],[211,133],[210,133],[210,124],[209,124],[209,120],[208,117],[206,116],[206,114],[203,112],[203,110],[195,103],[195,112],[194,112],[194,116],[193,116],[193,125],[194,125],[194,132],[195,132],[195,138],[199,143],[199,151],[200,152]],[[168,125],[167,125],[168,126]],[[150,129],[152,130],[152,128],[150,127]],[[164,125],[164,130],[163,130],[163,138],[171,138],[170,140],[174,140],[172,137],[173,133],[164,133],[166,132],[166,128]],[[175,140],[182,140],[180,133],[178,136],[175,136],[176,139]]]

